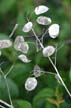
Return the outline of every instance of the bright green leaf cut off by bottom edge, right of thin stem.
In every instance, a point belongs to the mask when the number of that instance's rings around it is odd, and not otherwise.
[[[25,100],[14,100],[13,104],[15,108],[32,108],[32,105]]]

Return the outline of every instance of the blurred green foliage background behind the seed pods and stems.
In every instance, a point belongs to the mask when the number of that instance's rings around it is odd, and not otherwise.
[[[9,35],[16,23],[18,29],[11,38],[12,41],[17,35],[23,35],[26,41],[31,41],[32,33],[22,32],[22,27],[27,22],[27,17],[35,23],[36,15],[30,14],[38,5],[48,6],[50,9],[43,14],[52,19],[52,23],[60,25],[60,35],[57,39],[51,39],[46,34],[44,43],[46,45],[58,45],[61,47],[57,53],[57,68],[71,91],[71,0],[0,0],[0,39],[9,38]],[[46,27],[44,27],[44,30]],[[36,26],[38,35],[42,34],[42,26]],[[30,76],[34,65],[38,64],[45,71],[55,72],[49,60],[42,56],[41,51],[36,53],[36,46],[30,45],[28,57],[32,59],[29,64],[24,64],[17,59],[20,54],[13,47],[2,50],[0,63],[4,73],[11,65],[14,68],[7,77],[12,101],[15,108],[71,108],[71,99],[64,87],[49,74],[43,75],[38,80],[37,88],[27,92],[24,88],[25,80]],[[54,60],[54,55],[52,56]],[[6,84],[0,74],[0,99],[9,103]]]

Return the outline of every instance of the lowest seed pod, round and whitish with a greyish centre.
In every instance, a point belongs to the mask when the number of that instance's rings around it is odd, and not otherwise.
[[[26,82],[25,82],[25,89],[27,91],[32,91],[36,88],[37,86],[37,80],[35,77],[29,77],[27,78]]]

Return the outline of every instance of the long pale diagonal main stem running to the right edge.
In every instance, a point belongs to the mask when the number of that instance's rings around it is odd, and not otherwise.
[[[41,48],[44,49],[43,44],[40,42],[38,36],[36,35],[36,33],[35,33],[35,31],[34,31],[33,29],[32,29],[32,32],[33,32],[34,36],[36,37],[37,41],[39,42],[39,44],[41,45]],[[57,67],[55,66],[55,64],[53,63],[52,59],[51,59],[49,56],[48,56],[48,59],[49,59],[50,63],[52,64],[53,68],[55,69],[55,71],[56,71],[56,73],[57,73],[57,75],[58,75],[58,77],[59,77],[59,79],[60,79],[62,85],[64,86],[65,90],[67,91],[67,93],[69,94],[69,96],[70,96],[70,98],[71,98],[71,93],[70,93],[70,91],[68,90],[68,88],[67,88],[66,84],[64,83],[63,79],[61,78]]]

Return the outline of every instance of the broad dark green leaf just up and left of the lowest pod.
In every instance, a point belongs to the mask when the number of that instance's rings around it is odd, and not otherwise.
[[[9,77],[13,79],[16,84],[21,85],[30,75],[31,70],[31,64],[17,63],[10,72]]]

